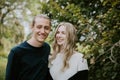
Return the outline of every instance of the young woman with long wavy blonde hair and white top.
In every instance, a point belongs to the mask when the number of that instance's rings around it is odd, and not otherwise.
[[[76,29],[68,22],[56,28],[53,53],[50,57],[50,74],[53,80],[87,80],[88,65],[83,54],[75,51]]]

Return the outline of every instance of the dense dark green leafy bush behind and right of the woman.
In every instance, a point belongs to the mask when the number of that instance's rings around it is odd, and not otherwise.
[[[119,80],[119,4],[119,0],[49,0],[47,4],[42,3],[43,13],[58,22],[68,21],[76,26],[77,49],[88,58],[89,80]]]

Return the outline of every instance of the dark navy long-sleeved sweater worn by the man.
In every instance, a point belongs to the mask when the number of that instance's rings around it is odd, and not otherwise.
[[[11,49],[5,80],[46,80],[50,46],[33,47],[26,41]]]

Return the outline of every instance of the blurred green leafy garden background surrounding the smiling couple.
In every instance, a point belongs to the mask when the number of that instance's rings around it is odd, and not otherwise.
[[[37,14],[77,28],[77,50],[88,60],[89,80],[120,80],[120,0],[0,0],[0,80],[5,78],[10,49],[30,37]]]

